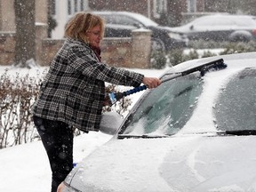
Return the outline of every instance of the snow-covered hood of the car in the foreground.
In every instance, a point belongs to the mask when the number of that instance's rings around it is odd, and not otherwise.
[[[256,191],[255,136],[110,140],[66,182],[81,191]]]

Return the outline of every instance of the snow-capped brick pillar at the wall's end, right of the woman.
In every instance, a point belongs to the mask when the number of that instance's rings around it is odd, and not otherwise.
[[[132,66],[131,68],[149,68],[151,55],[151,30],[132,31]]]

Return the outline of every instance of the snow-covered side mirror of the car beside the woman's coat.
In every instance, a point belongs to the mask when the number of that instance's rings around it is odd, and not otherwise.
[[[116,112],[105,112],[100,120],[100,132],[114,135],[124,119]]]

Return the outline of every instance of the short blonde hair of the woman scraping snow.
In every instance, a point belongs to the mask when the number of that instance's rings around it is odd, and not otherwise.
[[[96,26],[100,26],[100,36],[103,38],[104,20],[92,13],[78,12],[68,21],[65,28],[65,36],[88,43],[85,33]]]

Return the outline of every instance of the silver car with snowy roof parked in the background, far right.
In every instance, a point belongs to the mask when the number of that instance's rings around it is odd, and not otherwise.
[[[172,28],[186,34],[189,40],[249,42],[256,40],[256,20],[251,15],[213,14]]]

